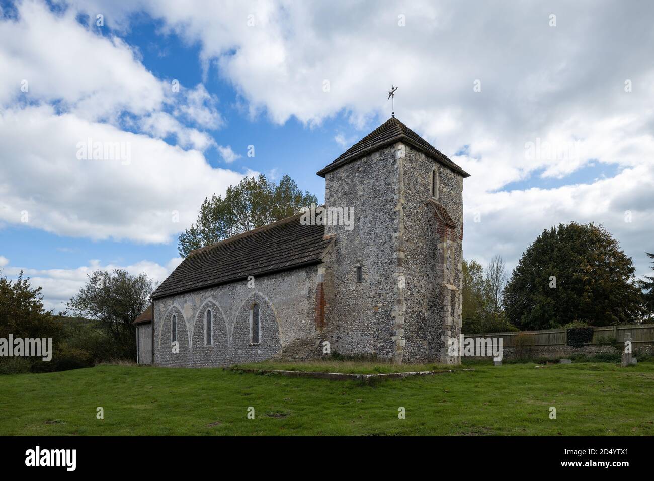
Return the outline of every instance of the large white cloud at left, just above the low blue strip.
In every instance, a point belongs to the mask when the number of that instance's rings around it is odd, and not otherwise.
[[[88,138],[129,147],[129,164],[78,160]],[[47,106],[1,113],[0,145],[0,179],[11,179],[0,182],[0,221],[18,224],[27,211],[27,225],[62,236],[165,242],[196,220],[207,194],[244,175],[211,168],[198,151]]]

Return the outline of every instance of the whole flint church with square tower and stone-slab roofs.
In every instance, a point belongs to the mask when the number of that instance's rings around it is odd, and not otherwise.
[[[468,173],[392,116],[317,174],[332,215],[304,211],[188,254],[137,319],[140,362],[459,363],[447,342],[461,332]]]

